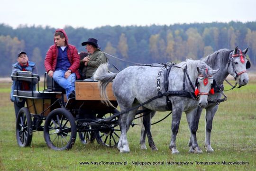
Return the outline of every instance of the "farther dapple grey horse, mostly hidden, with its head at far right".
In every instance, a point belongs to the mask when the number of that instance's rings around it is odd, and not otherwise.
[[[208,55],[202,61],[207,63],[212,69],[219,69],[219,72],[214,75],[214,79],[216,81],[216,88],[215,94],[210,95],[209,99],[212,101],[206,107],[206,115],[205,115],[205,147],[206,152],[213,152],[213,149],[210,145],[210,132],[212,129],[212,120],[217,112],[218,103],[222,96],[222,89],[223,89],[223,82],[228,77],[228,75],[232,75],[236,81],[238,82],[239,86],[244,86],[248,83],[249,78],[247,75],[247,68],[250,68],[250,62],[245,58],[247,49],[241,51],[238,47],[235,50],[229,49],[220,49],[213,54]],[[216,101],[216,102],[214,102]],[[189,126],[194,126],[194,129],[198,129],[199,119],[201,116],[202,108],[198,107],[197,110],[193,110],[191,114],[191,118],[187,117],[187,121]],[[152,117],[155,115],[155,111],[150,113]],[[187,115],[188,116],[188,115]],[[147,118],[143,118],[143,123],[148,122],[146,121]],[[192,133],[191,133],[192,134]],[[189,152],[195,152],[192,145],[192,137],[190,137],[189,146],[191,147]],[[145,144],[146,139],[146,131],[145,127],[142,126],[141,129],[141,149],[146,149]],[[149,137],[148,139],[151,139]]]

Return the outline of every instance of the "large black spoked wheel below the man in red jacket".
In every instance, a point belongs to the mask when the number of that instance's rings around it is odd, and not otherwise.
[[[76,138],[76,124],[72,114],[56,108],[46,117],[44,126],[46,144],[53,150],[71,149]]]

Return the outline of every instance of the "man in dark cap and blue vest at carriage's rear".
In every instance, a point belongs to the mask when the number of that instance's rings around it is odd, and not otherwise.
[[[12,73],[16,73],[17,71],[29,71],[37,74],[37,66],[36,63],[32,61],[28,61],[27,53],[20,52],[18,53],[17,63],[12,65]],[[20,108],[24,107],[25,99],[15,98],[13,97],[13,92],[17,87],[17,81],[14,80],[11,85],[11,93],[10,100],[14,103],[15,115],[18,116],[18,111]],[[18,83],[19,90],[31,90],[31,85],[27,81],[19,81]],[[33,88],[35,89],[35,87]]]

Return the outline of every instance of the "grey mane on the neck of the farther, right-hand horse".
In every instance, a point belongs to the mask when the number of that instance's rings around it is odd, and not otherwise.
[[[229,55],[233,50],[229,49],[219,49],[218,51],[215,51],[213,54],[210,54],[206,56],[202,61],[207,63],[211,68],[215,68],[214,66],[217,66],[218,64],[224,64],[228,63],[229,61]]]

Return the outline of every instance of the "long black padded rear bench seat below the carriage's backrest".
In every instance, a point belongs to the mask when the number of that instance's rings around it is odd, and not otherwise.
[[[29,99],[52,99],[56,97],[55,92],[48,91],[31,91],[31,90],[14,90],[13,96],[20,98],[29,98]]]

